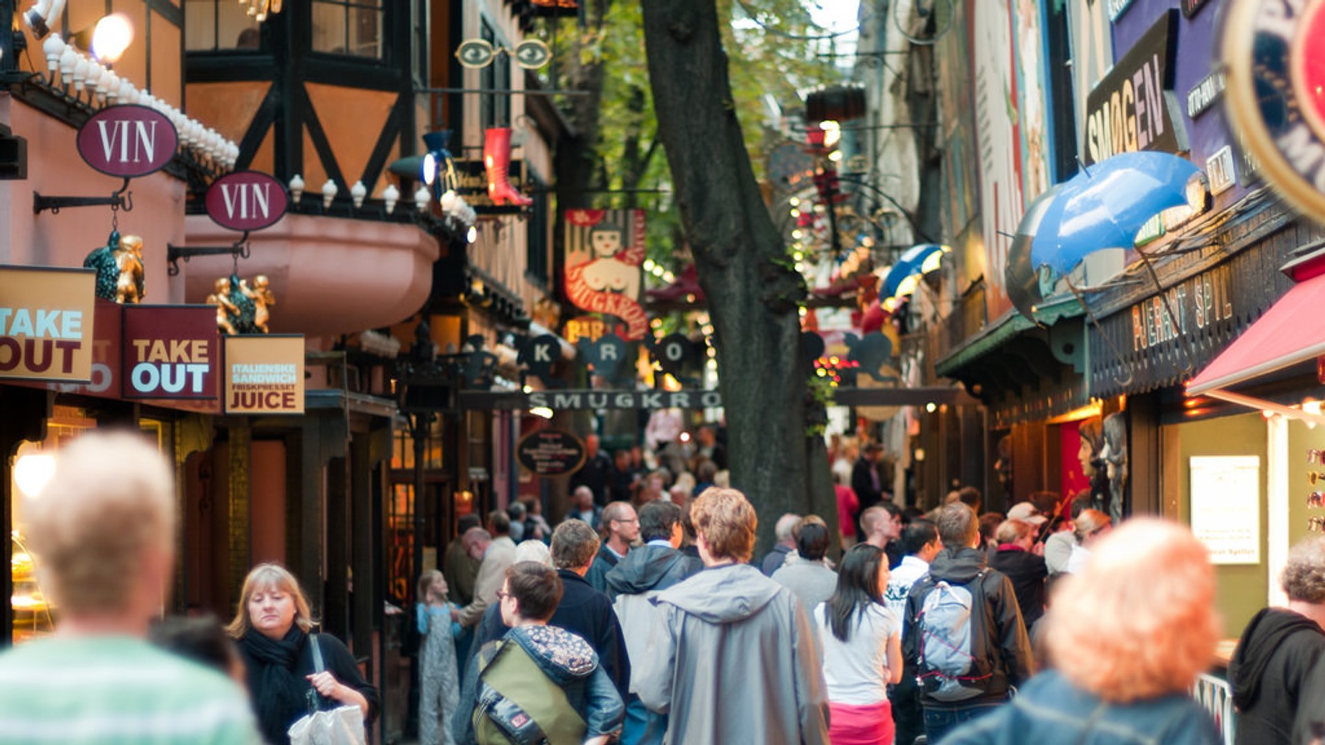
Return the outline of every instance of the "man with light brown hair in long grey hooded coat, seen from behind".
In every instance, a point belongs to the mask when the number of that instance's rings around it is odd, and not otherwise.
[[[668,713],[665,742],[820,745],[828,701],[814,628],[790,590],[747,565],[757,518],[745,494],[713,487],[690,506],[705,570],[656,598],[632,677]]]

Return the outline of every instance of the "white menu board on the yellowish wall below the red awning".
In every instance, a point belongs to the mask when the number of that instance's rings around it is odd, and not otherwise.
[[[1191,532],[1211,563],[1260,563],[1260,456],[1191,457]]]

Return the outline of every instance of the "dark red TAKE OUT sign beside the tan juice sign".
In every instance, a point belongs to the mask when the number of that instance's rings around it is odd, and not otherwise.
[[[126,399],[215,399],[220,335],[211,305],[125,306]]]

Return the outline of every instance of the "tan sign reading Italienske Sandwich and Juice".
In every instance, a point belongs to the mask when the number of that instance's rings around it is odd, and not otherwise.
[[[303,335],[225,337],[225,414],[303,414]]]

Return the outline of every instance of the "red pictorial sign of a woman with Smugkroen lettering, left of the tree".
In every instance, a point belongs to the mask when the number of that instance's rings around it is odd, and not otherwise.
[[[643,339],[649,327],[640,305],[644,211],[567,209],[564,217],[566,296],[582,310],[620,319],[625,341]]]

